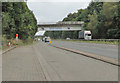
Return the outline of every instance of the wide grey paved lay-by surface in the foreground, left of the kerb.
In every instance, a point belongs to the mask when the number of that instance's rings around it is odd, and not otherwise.
[[[118,81],[118,67],[43,42],[2,55],[3,81]]]

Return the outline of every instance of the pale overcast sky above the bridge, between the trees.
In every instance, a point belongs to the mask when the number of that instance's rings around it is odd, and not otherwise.
[[[62,21],[69,13],[86,8],[91,0],[28,0],[38,22]]]

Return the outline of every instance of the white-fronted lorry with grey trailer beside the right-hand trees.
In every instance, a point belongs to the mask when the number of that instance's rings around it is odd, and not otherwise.
[[[91,31],[79,31],[79,39],[85,39],[85,40],[92,39]]]

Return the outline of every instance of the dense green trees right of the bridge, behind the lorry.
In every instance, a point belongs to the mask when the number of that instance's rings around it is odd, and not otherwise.
[[[83,30],[91,30],[93,38],[120,38],[120,2],[91,2],[63,21],[84,21]]]

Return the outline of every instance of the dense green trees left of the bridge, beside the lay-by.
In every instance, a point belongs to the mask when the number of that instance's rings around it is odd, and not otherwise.
[[[37,20],[25,2],[3,2],[2,3],[3,35],[7,38],[19,38],[26,40],[33,38],[37,31]]]

